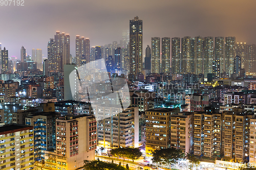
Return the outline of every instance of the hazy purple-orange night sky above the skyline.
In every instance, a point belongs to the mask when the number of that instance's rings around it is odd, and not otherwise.
[[[119,42],[138,15],[143,53],[151,37],[236,36],[256,43],[255,7],[255,0],[24,0],[24,6],[0,6],[0,42],[9,57],[19,58],[22,45],[28,55],[41,48],[47,57],[47,43],[60,31],[70,34],[75,56],[77,34],[90,38],[91,46]]]

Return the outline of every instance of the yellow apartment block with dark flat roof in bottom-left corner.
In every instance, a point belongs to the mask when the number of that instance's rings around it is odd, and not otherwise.
[[[34,134],[32,126],[9,124],[0,127],[1,169],[34,168]]]

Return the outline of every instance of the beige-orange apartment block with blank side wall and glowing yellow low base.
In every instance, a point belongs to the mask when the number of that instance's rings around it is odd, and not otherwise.
[[[93,115],[65,116],[56,119],[56,151],[45,151],[45,166],[74,170],[83,160],[94,160],[97,125]]]

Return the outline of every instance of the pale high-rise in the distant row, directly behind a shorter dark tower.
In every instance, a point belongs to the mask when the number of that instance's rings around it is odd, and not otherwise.
[[[215,37],[215,65],[220,64],[219,69],[220,73],[224,72],[224,37]],[[220,60],[218,62],[218,60]]]

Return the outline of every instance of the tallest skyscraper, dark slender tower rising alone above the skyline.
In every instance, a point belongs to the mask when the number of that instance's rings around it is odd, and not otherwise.
[[[130,20],[130,74],[142,72],[142,20]]]

